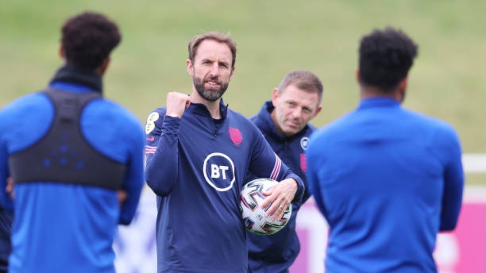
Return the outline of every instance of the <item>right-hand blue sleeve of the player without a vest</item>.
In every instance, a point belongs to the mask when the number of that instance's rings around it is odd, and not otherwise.
[[[446,164],[444,169],[444,195],[440,215],[440,231],[453,230],[459,218],[464,188],[464,173],[461,161],[459,137],[452,130],[444,147]]]

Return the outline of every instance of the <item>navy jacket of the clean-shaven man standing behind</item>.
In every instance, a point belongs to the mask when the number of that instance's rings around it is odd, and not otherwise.
[[[300,251],[296,233],[296,217],[300,206],[310,197],[305,179],[306,160],[304,151],[309,144],[309,136],[315,130],[307,124],[292,137],[286,137],[275,129],[270,113],[274,106],[271,100],[266,101],[260,111],[250,120],[262,131],[265,139],[280,159],[287,164],[293,173],[302,178],[305,186],[304,195],[298,202],[292,203],[292,216],[289,222],[275,234],[261,236],[246,233],[248,246],[248,269],[251,273],[285,273],[294,263]],[[254,179],[250,176],[248,179]]]

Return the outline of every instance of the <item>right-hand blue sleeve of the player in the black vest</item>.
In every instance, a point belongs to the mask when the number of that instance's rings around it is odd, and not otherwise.
[[[127,174],[123,182],[123,190],[127,192],[127,199],[123,202],[120,211],[120,224],[129,224],[134,215],[140,200],[140,193],[143,188],[143,144],[144,134],[141,125],[136,123],[132,130],[133,140],[130,150],[130,159],[127,162]]]

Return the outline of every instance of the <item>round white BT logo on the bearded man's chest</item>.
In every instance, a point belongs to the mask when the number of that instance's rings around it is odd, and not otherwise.
[[[218,192],[228,191],[235,183],[235,164],[224,153],[208,155],[204,160],[203,172],[206,182]]]

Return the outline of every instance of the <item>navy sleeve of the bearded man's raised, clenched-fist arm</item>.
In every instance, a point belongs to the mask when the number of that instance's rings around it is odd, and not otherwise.
[[[180,124],[181,119],[157,112],[151,113],[147,119],[145,179],[147,185],[158,196],[169,195],[177,184]]]

